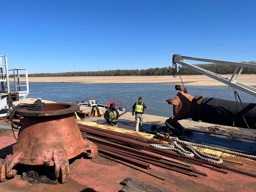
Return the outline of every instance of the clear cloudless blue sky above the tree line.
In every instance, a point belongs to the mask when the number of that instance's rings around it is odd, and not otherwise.
[[[172,54],[256,60],[256,1],[1,1],[9,68],[57,73],[171,66]]]

